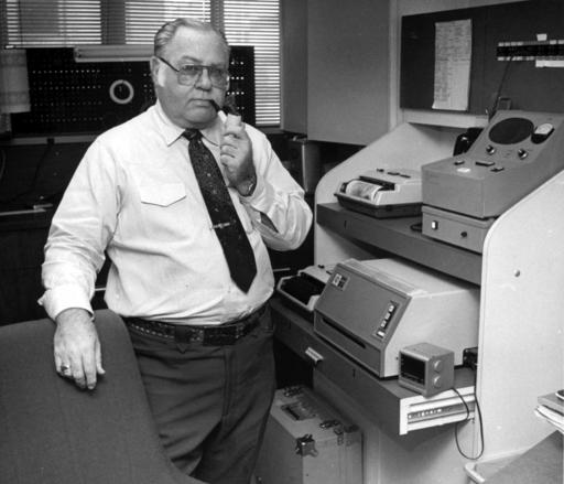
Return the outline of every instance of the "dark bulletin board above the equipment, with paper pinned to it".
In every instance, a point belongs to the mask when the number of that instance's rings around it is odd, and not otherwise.
[[[511,109],[564,111],[564,67],[498,61],[498,43],[564,39],[564,2],[532,0],[402,18],[400,107],[433,109],[437,22],[471,20],[471,67],[465,112],[486,115],[498,97]],[[564,58],[564,57],[563,57]]]

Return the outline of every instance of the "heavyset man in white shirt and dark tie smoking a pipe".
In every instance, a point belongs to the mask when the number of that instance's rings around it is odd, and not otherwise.
[[[89,300],[106,250],[106,302],[129,327],[167,454],[203,481],[248,484],[274,389],[265,245],[299,247],[312,213],[265,137],[217,111],[228,60],[208,24],[177,19],[156,33],[158,103],[86,152],[53,218],[40,302],[56,321],[56,370],[94,389],[105,370]],[[202,158],[221,170],[229,222],[207,205],[217,190]],[[238,221],[253,260],[235,269],[247,249],[234,262],[223,237]]]

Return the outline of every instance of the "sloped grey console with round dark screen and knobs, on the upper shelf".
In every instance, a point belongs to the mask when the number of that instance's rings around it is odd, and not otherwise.
[[[498,111],[466,153],[422,166],[423,204],[497,217],[564,169],[564,116]]]

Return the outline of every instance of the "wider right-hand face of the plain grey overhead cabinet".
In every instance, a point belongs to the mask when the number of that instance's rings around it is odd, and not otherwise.
[[[308,0],[311,139],[367,144],[388,131],[388,18],[386,1]]]

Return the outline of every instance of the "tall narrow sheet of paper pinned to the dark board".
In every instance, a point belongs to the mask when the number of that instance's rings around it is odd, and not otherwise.
[[[433,109],[468,109],[470,60],[471,19],[435,23]]]

